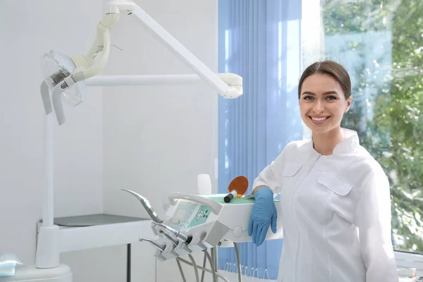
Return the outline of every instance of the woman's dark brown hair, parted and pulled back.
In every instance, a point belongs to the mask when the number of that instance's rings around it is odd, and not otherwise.
[[[304,73],[302,73],[300,82],[298,83],[298,99],[300,99],[301,96],[302,82],[304,82],[309,75],[313,75],[314,73],[331,76],[341,85],[345,99],[348,99],[351,96],[350,75],[348,75],[348,72],[345,71],[345,68],[334,61],[321,61],[313,63],[305,69]]]

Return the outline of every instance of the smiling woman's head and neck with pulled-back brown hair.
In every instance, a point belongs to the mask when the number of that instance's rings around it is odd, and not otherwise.
[[[333,61],[313,63],[302,73],[298,99],[302,121],[312,130],[314,149],[332,154],[331,149],[344,139],[341,121],[353,101],[347,71]]]

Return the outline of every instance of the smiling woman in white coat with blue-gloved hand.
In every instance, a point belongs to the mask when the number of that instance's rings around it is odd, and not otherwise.
[[[262,245],[276,232],[274,195],[281,194],[283,250],[278,281],[398,281],[391,243],[391,197],[381,166],[341,128],[350,109],[350,77],[323,61],[300,78],[302,121],[312,140],[291,142],[253,183],[248,233]]]

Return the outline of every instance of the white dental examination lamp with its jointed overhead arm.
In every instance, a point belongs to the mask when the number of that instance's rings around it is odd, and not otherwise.
[[[110,30],[120,16],[127,13],[156,39],[184,61],[196,75],[102,75],[99,74],[109,59]],[[204,80],[223,98],[236,98],[243,94],[243,79],[233,73],[216,74],[197,59],[183,44],[164,30],[133,1],[111,1],[106,4],[106,15],[97,25],[97,38],[86,55],[69,58],[56,51],[42,57],[44,81],[41,85],[42,100],[46,114],[56,113],[59,125],[65,122],[63,100],[76,106],[85,99],[87,85],[162,85],[192,84]],[[88,80],[90,78],[90,80]],[[49,91],[51,91],[51,99]]]

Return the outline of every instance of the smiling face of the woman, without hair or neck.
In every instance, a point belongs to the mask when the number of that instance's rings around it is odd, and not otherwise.
[[[341,85],[329,75],[315,73],[302,82],[300,114],[313,133],[327,133],[341,126],[353,97],[345,99]]]

